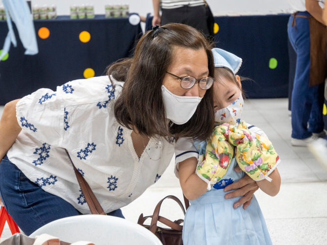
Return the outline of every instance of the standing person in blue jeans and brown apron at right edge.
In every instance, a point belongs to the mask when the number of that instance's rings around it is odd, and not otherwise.
[[[319,5],[324,1],[289,0],[295,13],[289,19],[288,36],[297,53],[292,93],[293,146],[307,146],[325,135],[322,111],[327,29]]]

